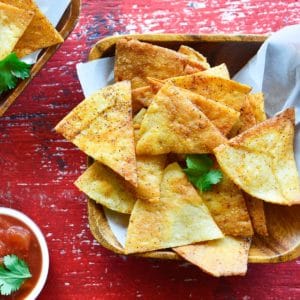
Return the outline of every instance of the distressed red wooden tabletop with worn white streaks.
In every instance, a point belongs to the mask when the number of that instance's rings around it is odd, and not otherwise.
[[[73,185],[85,155],[53,132],[83,99],[76,63],[104,36],[259,34],[296,23],[297,0],[83,0],[73,34],[0,118],[0,204],[32,217],[49,245],[41,299],[300,299],[300,260],[250,265],[244,278],[217,279],[185,262],[124,257],[99,246],[88,229],[85,196]]]

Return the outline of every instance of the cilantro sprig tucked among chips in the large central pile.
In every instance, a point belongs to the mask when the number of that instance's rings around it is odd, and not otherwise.
[[[185,174],[201,192],[209,191],[212,185],[222,180],[222,172],[213,169],[214,162],[207,154],[187,155],[186,165]]]

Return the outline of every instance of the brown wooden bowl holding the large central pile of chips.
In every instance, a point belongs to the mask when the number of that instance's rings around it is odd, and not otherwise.
[[[113,56],[116,41],[124,36],[113,36],[100,40],[90,51],[89,60]],[[204,54],[212,66],[226,63],[233,76],[258,51],[266,36],[261,35],[175,35],[138,34],[130,35],[170,49],[184,44]],[[266,203],[268,237],[255,235],[252,241],[249,262],[275,263],[297,258],[300,255],[300,205],[286,207]],[[96,240],[115,253],[124,254],[124,249],[115,238],[105,217],[103,207],[88,200],[91,231]],[[181,259],[171,250],[139,254],[143,257]]]

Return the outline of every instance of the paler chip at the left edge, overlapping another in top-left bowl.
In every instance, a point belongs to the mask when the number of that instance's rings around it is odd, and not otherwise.
[[[0,59],[9,55],[24,31],[30,24],[34,13],[0,2]]]

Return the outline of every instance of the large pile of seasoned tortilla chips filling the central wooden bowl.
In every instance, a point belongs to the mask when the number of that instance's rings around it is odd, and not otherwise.
[[[252,236],[268,235],[264,201],[300,203],[294,109],[266,119],[261,93],[187,46],[121,39],[115,80],[56,126],[94,159],[76,186],[130,214],[124,253],[171,248],[214,276],[244,275]],[[187,154],[210,155],[222,181],[197,190]]]

